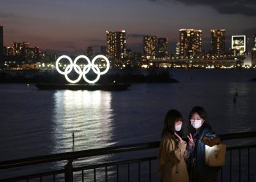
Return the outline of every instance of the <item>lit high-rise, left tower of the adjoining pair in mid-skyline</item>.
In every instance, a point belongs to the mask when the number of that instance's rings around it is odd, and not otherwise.
[[[147,60],[156,58],[157,36],[143,36],[143,56]]]

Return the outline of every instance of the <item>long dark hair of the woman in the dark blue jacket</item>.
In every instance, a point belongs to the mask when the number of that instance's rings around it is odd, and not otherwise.
[[[200,118],[204,120],[202,127],[200,127],[200,134],[203,132],[204,128],[209,128],[211,130],[211,125],[208,123],[208,116],[206,114],[206,109],[204,109],[202,106],[195,106],[192,108],[192,110],[189,113],[189,125],[188,130],[190,133],[195,133],[195,128],[192,127],[190,119],[192,118],[193,114],[197,113]]]

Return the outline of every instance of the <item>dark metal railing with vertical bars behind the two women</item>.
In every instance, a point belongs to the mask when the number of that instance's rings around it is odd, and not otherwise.
[[[255,132],[239,132],[239,133],[231,133],[231,134],[225,134],[225,135],[219,135],[220,138],[222,138],[222,141],[227,140],[233,140],[233,139],[242,139],[242,138],[255,138],[256,137],[256,131]],[[97,169],[103,168],[105,170],[105,181],[108,181],[108,178],[110,178],[110,175],[108,174],[110,167],[111,167],[111,173],[112,178],[115,177],[115,181],[120,181],[120,170],[122,165],[127,165],[127,181],[131,181],[131,167],[132,164],[137,164],[137,177],[138,179],[136,181],[140,181],[141,178],[146,178],[145,174],[142,175],[141,165],[145,162],[148,163],[148,172],[146,175],[148,175],[146,181],[154,181],[152,180],[152,173],[157,173],[156,171],[152,171],[152,161],[157,161],[157,156],[154,155],[152,157],[140,157],[140,158],[133,158],[133,159],[127,159],[127,160],[118,160],[114,162],[105,162],[95,165],[82,165],[80,167],[74,167],[73,162],[78,159],[83,159],[87,157],[97,157],[97,156],[105,156],[108,154],[127,154],[131,151],[144,151],[149,149],[158,149],[159,148],[159,141],[154,141],[150,143],[139,143],[139,144],[132,144],[132,145],[125,145],[125,146],[113,146],[113,147],[107,147],[102,149],[90,149],[90,150],[84,150],[84,151],[72,151],[72,152],[66,152],[61,154],[51,154],[46,156],[40,156],[40,157],[30,157],[25,159],[15,159],[15,160],[9,160],[0,162],[0,173],[2,170],[7,169],[14,169],[15,167],[26,167],[31,165],[42,165],[47,164],[51,162],[66,162],[64,166],[62,166],[62,169],[60,170],[51,170],[49,172],[45,173],[34,173],[31,175],[22,175],[18,177],[11,177],[11,178],[4,178],[0,179],[0,181],[33,181],[34,179],[37,179],[39,181],[44,181],[43,178],[46,176],[51,176],[52,181],[59,181],[59,178],[56,178],[57,175],[63,175],[63,181],[74,181],[74,173],[80,172],[80,180],[79,181],[85,181],[84,178],[86,177],[86,171],[93,170],[93,173],[89,172],[90,175],[93,174],[93,181],[97,181]],[[241,181],[242,177],[244,175],[241,175],[241,152],[246,151],[246,181],[255,180],[251,179],[250,176],[255,176],[256,172],[255,170],[252,172],[251,165],[252,162],[250,161],[250,153],[252,152],[252,149],[256,148],[255,145],[245,145],[245,146],[228,146],[227,147],[227,155],[226,155],[226,162],[225,166],[222,167],[222,170],[220,171],[219,175],[219,181],[233,181],[234,180],[234,173],[233,173],[233,165],[236,163],[233,160],[233,154],[238,151],[238,178],[236,178],[237,181]],[[237,158],[236,158],[237,159]],[[243,165],[244,166],[244,165]],[[229,168],[227,168],[229,167]],[[113,170],[115,168],[115,170]],[[122,167],[124,168],[124,167]],[[226,169],[227,168],[227,169]],[[244,169],[244,168],[243,168]],[[143,170],[145,173],[145,170]],[[134,170],[133,170],[134,172]],[[226,173],[229,173],[229,176],[227,177]],[[253,174],[252,174],[253,173]],[[88,173],[87,173],[88,174]],[[243,173],[244,174],[244,173]],[[243,179],[244,180],[244,179]],[[48,179],[49,181],[49,179]],[[112,179],[113,181],[113,179]]]

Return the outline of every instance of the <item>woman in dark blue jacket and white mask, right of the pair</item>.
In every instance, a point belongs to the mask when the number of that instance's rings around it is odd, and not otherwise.
[[[205,162],[206,144],[202,142],[203,136],[217,137],[208,124],[206,110],[201,106],[192,108],[189,114],[189,139],[187,151],[189,152],[190,171],[189,181],[217,181],[219,167],[210,167]]]

